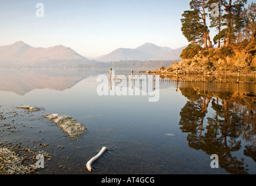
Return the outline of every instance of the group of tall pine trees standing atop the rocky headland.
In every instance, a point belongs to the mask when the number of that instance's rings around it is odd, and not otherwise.
[[[218,47],[221,47],[221,41],[225,46],[241,42],[245,39],[246,23],[255,20],[248,20],[246,3],[247,0],[191,0],[190,10],[184,11],[182,15],[182,33],[191,44],[204,44],[204,48],[212,47],[207,26],[209,18],[210,27],[218,31],[214,37]],[[213,9],[212,5],[216,7]],[[253,7],[249,6],[248,10],[253,12]]]

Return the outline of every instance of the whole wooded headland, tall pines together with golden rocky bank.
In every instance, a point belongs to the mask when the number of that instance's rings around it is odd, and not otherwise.
[[[168,71],[209,73],[255,71],[256,3],[247,0],[190,0],[182,14],[182,33],[189,41]],[[213,28],[211,30],[208,29]],[[211,47],[209,31],[218,48]],[[217,46],[216,46],[217,47]]]

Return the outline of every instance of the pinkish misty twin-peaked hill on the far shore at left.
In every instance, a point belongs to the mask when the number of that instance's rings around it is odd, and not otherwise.
[[[34,48],[23,41],[0,47],[0,67],[79,67],[90,60],[71,48],[58,45],[49,48]]]

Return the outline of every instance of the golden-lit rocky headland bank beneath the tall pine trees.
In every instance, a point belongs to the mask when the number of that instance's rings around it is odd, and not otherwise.
[[[256,45],[202,49],[189,45],[182,60],[169,67],[140,71],[179,81],[211,81],[221,83],[256,83]]]

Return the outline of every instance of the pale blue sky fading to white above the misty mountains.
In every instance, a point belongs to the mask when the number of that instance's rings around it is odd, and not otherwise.
[[[95,58],[145,42],[187,45],[180,19],[189,0],[0,0],[0,46],[24,41],[32,47],[64,45]],[[44,17],[37,17],[37,3]]]

